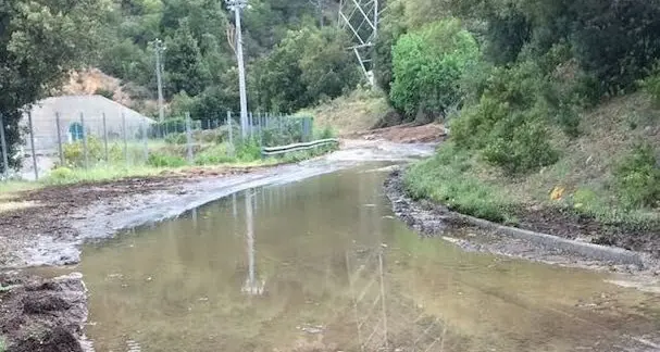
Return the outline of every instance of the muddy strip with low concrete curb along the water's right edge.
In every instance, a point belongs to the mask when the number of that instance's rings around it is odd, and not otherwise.
[[[565,214],[555,217],[551,212],[538,210],[521,213],[522,228],[503,227],[457,214],[440,204],[412,200],[406,194],[400,171],[390,175],[385,188],[395,213],[410,227],[423,236],[443,237],[466,251],[660,278],[660,262],[650,253],[596,246],[578,238],[584,231],[598,231],[599,225],[588,219]]]

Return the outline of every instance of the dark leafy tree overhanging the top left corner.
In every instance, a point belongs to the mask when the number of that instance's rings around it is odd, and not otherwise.
[[[23,110],[85,62],[110,5],[107,0],[0,2],[0,113],[10,155],[21,142]],[[10,166],[16,165],[12,160]]]

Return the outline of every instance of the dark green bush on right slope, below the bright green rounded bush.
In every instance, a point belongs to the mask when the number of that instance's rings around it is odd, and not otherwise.
[[[534,63],[493,70],[478,103],[451,124],[452,140],[481,151],[509,174],[556,163],[559,155],[548,138],[551,109],[540,95],[545,89]]]

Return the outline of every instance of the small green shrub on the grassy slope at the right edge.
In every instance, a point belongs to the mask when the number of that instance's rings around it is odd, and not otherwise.
[[[660,205],[660,166],[649,143],[635,146],[614,169],[619,199],[627,208]]]

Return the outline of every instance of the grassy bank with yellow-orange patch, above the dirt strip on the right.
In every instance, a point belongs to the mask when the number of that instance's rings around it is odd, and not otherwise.
[[[643,93],[613,99],[581,115],[580,137],[550,131],[558,161],[519,175],[450,138],[406,173],[404,185],[415,199],[498,223],[518,224],[525,210],[545,209],[653,231],[660,229],[660,179],[652,178],[659,167],[652,166],[660,150],[658,115]]]

